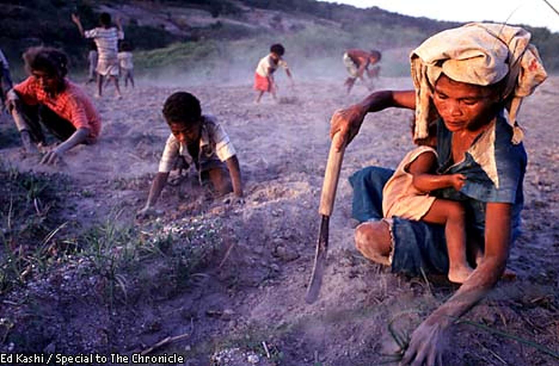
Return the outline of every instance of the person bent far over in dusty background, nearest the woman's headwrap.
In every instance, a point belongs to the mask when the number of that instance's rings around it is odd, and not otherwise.
[[[344,85],[347,86],[347,93],[351,91],[353,85],[355,84],[357,79],[361,79],[363,83],[365,79],[363,78],[363,74],[367,71],[367,76],[369,79],[378,78],[378,73],[380,71],[380,66],[374,66],[369,69],[369,66],[375,65],[378,61],[381,60],[382,54],[380,51],[372,50],[370,52],[359,50],[359,49],[351,49],[344,52],[344,65],[345,68],[348,70],[349,77],[345,79]],[[372,90],[372,84],[367,86],[369,90]]]

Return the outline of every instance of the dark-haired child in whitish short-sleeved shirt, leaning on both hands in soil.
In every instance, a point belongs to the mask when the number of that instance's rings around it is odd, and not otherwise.
[[[198,171],[201,183],[209,180],[218,195],[233,190],[236,200],[241,202],[243,189],[239,160],[229,136],[215,117],[203,115],[200,101],[184,91],[174,93],[165,100],[163,116],[171,133],[159,161],[159,172],[151,184],[148,201],[137,216],[143,218],[155,214],[153,206],[167,182],[169,172],[188,168],[192,164]],[[229,171],[230,180],[226,171]]]

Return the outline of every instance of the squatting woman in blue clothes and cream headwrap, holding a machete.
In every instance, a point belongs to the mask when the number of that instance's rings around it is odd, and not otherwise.
[[[460,42],[457,42],[460,40]],[[495,285],[519,234],[527,156],[516,122],[522,98],[546,79],[530,33],[518,27],[471,23],[428,38],[411,53],[415,90],[378,91],[363,102],[338,110],[330,135],[351,141],[364,116],[388,107],[415,109],[414,139],[427,137],[429,110],[439,115],[438,172],[466,177],[459,191],[438,197],[460,201],[467,235],[479,238],[483,256],[471,276],[411,336],[404,364],[443,364],[447,331]],[[352,213],[361,222],[356,245],[392,272],[448,273],[444,228],[422,220],[383,219],[382,189],[394,171],[367,167],[350,177]]]

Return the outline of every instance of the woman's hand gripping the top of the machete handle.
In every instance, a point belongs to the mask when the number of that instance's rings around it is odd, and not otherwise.
[[[348,145],[359,132],[366,109],[361,105],[354,104],[349,108],[338,109],[330,119],[330,138],[335,134],[342,133],[342,138],[338,138],[336,150],[340,151],[343,146]]]

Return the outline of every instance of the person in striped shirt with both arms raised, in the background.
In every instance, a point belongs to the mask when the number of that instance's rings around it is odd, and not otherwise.
[[[103,92],[103,78],[112,79],[115,83],[116,97],[122,98],[119,88],[119,40],[124,40],[124,32],[120,19],[116,18],[116,27],[111,26],[111,15],[101,13],[99,21],[101,27],[93,28],[88,31],[83,30],[82,22],[76,14],[72,14],[72,21],[78,26],[78,30],[83,37],[93,38],[97,45],[97,95],[101,97]]]

